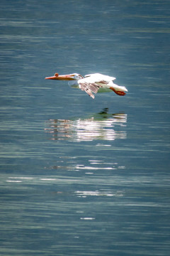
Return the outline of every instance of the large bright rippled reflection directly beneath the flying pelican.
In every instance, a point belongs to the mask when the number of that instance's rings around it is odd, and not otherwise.
[[[104,109],[92,117],[78,118],[72,120],[51,119],[48,122],[46,132],[52,134],[52,139],[68,139],[72,141],[92,141],[125,139],[125,127],[127,114],[108,114],[108,109]],[[118,127],[118,131],[116,128]]]

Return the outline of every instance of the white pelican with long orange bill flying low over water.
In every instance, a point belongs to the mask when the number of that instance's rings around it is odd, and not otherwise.
[[[115,85],[113,83],[113,80],[115,80],[115,78],[99,73],[85,75],[84,77],[77,73],[69,75],[59,75],[58,73],[55,73],[54,76],[45,79],[69,80],[69,85],[77,85],[76,87],[84,90],[93,99],[94,95],[92,92],[111,92],[111,90],[113,90],[113,92],[120,96],[123,96],[125,95],[125,92],[128,92],[126,87]]]

